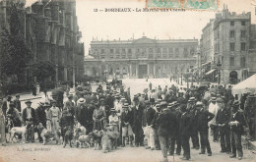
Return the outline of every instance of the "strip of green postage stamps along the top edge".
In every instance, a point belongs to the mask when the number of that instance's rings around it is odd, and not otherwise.
[[[148,8],[218,10],[219,0],[146,0]]]

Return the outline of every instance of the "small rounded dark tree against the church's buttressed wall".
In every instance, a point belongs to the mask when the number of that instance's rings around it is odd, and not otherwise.
[[[55,65],[49,61],[39,61],[32,65],[32,76],[36,77],[37,81],[44,81],[55,74]]]

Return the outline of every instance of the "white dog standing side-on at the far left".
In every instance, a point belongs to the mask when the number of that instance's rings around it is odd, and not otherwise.
[[[11,141],[12,143],[14,143],[14,137],[15,135],[22,135],[22,138],[23,138],[23,143],[26,142],[26,137],[27,137],[27,129],[31,127],[31,125],[26,125],[26,126],[23,126],[23,127],[13,127],[11,130],[10,130],[10,138],[9,138],[9,141]]]

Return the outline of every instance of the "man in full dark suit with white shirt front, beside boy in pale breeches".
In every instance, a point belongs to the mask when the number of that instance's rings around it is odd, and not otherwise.
[[[139,98],[137,96],[134,97],[134,106],[132,108],[133,112],[133,126],[132,130],[135,135],[135,145],[138,147],[144,146],[143,140],[143,130],[142,130],[142,116],[143,116],[143,106],[139,102]]]

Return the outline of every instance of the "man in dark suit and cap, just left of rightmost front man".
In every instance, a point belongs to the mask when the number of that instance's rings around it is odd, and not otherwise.
[[[217,99],[217,104],[221,108],[216,117],[216,124],[219,127],[220,135],[221,135],[221,152],[226,152],[229,154],[230,152],[230,128],[228,126],[229,118],[230,118],[230,110],[224,106],[224,100],[222,98]]]

